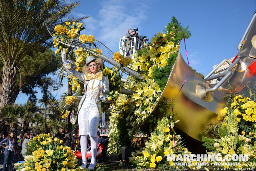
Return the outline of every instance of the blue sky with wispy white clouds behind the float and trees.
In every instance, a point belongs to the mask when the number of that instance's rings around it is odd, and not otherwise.
[[[119,39],[128,28],[138,28],[139,35],[151,38],[175,16],[184,27],[189,26],[192,34],[186,39],[190,66],[207,75],[215,64],[236,56],[237,45],[255,10],[256,0],[81,0],[71,14],[73,17],[90,16],[82,21],[86,25],[82,34],[94,35],[113,52],[118,51]],[[185,59],[184,41],[180,44],[180,52]],[[59,81],[56,76],[53,79]],[[59,91],[52,91],[57,99],[67,92],[67,79],[63,83]],[[40,99],[41,91],[35,89]],[[27,99],[28,96],[20,93],[16,102],[23,104]]]

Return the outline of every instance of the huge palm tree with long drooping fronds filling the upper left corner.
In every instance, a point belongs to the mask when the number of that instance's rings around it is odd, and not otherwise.
[[[0,108],[14,102],[20,86],[16,83],[18,68],[26,55],[52,47],[51,35],[43,24],[47,20],[66,17],[79,5],[66,5],[60,0],[8,0],[0,1],[0,59],[3,63],[0,78]],[[75,22],[87,18],[74,19]],[[52,22],[50,29],[59,20]]]

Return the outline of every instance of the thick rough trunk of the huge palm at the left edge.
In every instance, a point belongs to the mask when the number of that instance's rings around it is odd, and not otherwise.
[[[17,79],[14,66],[3,66],[3,78],[0,86],[0,108],[6,104],[15,101],[14,97],[15,81]]]

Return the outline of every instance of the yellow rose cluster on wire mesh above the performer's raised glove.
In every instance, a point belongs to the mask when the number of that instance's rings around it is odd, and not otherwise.
[[[66,52],[68,51],[69,42],[67,41],[67,38],[69,40],[74,39],[80,31],[85,29],[85,27],[82,27],[82,25],[83,23],[76,23],[76,22],[70,23],[66,21],[64,26],[57,25],[54,27],[54,30],[56,31],[56,33],[53,35],[54,36],[53,44],[54,44],[54,47],[57,47],[57,50],[55,51],[56,54],[60,53],[60,50],[62,48],[65,48]],[[59,43],[58,41],[61,41],[65,44]]]

